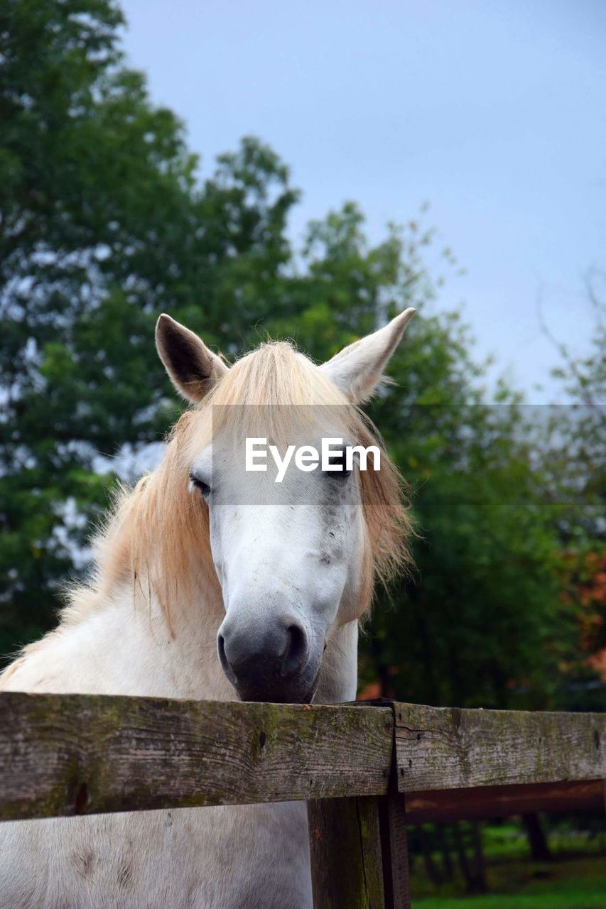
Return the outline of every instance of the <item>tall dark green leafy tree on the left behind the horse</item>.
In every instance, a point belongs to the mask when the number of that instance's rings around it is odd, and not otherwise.
[[[289,255],[287,168],[246,139],[199,185],[182,125],[123,65],[122,24],[114,0],[0,14],[2,653],[52,622],[113,479],[98,454],[177,412],[158,311],[246,344]]]

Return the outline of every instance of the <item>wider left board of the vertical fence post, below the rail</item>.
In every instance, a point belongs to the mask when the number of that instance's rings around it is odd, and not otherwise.
[[[378,799],[308,802],[314,909],[386,909]]]

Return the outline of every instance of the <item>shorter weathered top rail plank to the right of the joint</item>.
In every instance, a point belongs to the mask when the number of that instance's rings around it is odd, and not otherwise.
[[[606,714],[395,704],[400,792],[606,776]]]

